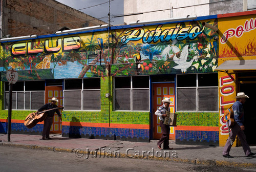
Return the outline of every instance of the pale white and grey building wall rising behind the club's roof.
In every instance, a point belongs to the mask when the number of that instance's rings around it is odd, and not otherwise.
[[[256,9],[255,4],[255,0],[163,0],[160,3],[154,0],[124,0],[124,14],[137,14],[124,16],[124,22],[251,11]]]

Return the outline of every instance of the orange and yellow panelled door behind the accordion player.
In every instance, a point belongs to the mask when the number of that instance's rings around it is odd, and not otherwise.
[[[168,97],[173,103],[169,105],[170,113],[175,113],[175,84],[174,83],[153,83],[153,138],[160,139],[162,130],[160,120],[155,115],[157,109],[163,105],[162,100]],[[175,127],[170,126],[170,140],[175,140]]]

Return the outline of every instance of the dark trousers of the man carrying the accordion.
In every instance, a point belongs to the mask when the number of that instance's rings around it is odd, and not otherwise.
[[[163,149],[169,148],[169,135],[170,135],[170,126],[165,125],[163,121],[160,121],[160,127],[162,130],[162,137],[157,142],[157,145],[161,147],[161,144],[163,143]]]

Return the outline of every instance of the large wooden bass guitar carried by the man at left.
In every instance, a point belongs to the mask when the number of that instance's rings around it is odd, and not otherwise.
[[[25,121],[24,121],[24,125],[27,126],[28,128],[33,128],[38,122],[42,122],[46,119],[47,117],[47,113],[48,111],[53,111],[56,109],[64,109],[64,107],[55,107],[53,109],[49,109],[46,111],[42,111],[42,112],[38,112],[37,114],[35,113],[31,113],[29,114]]]

